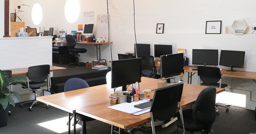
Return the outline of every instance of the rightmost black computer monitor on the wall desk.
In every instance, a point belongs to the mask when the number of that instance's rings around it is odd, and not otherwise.
[[[245,51],[221,50],[219,65],[231,67],[231,69],[227,71],[236,71],[233,70],[233,67],[243,68],[244,61]]]

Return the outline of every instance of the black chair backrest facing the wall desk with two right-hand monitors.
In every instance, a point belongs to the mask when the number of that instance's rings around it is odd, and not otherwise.
[[[221,79],[221,73],[218,67],[198,66],[197,75],[202,82],[207,84],[217,83]]]

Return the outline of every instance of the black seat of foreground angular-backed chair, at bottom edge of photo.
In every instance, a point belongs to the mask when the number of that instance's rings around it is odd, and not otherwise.
[[[162,128],[161,125],[155,126],[156,134],[178,134],[178,127],[175,123],[171,123],[166,128]],[[132,130],[132,134],[152,134],[152,129],[146,131],[140,128]]]

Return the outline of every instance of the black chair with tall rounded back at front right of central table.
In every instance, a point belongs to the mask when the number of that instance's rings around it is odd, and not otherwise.
[[[193,109],[183,110],[184,127],[190,134],[193,132],[201,132],[201,134],[209,134],[215,121],[215,99],[216,88],[213,86],[206,87],[198,95]],[[178,120],[176,124],[182,128],[182,120],[179,113],[176,113]]]

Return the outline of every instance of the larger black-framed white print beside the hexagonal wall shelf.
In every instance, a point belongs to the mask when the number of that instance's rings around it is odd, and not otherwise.
[[[221,34],[221,20],[206,21],[205,34]]]

